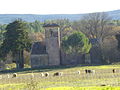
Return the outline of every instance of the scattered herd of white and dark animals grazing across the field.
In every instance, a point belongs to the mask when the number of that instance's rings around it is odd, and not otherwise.
[[[90,70],[90,69],[85,69],[84,72],[86,74],[90,74],[90,73],[93,73],[95,74],[95,70]],[[80,71],[76,71],[75,72],[76,74],[80,74],[81,72]],[[116,73],[116,69],[112,69],[112,73]],[[63,72],[55,72],[53,73],[53,76],[62,76],[63,75]],[[48,77],[49,76],[49,73],[48,72],[45,72],[45,73],[41,73],[41,77]],[[9,74],[7,75],[8,78],[10,78]],[[17,77],[17,73],[13,73],[12,74],[12,78],[16,78]],[[32,77],[34,77],[34,74],[32,73]],[[0,79],[2,79],[2,75],[0,75]]]

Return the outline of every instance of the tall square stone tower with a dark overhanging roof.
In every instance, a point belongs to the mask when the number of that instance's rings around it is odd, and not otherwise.
[[[60,65],[60,31],[57,24],[45,24],[45,43],[48,65]]]

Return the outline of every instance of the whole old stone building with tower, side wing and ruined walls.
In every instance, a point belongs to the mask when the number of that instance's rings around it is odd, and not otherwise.
[[[88,54],[66,54],[61,48],[59,25],[45,24],[45,40],[34,42],[31,49],[31,67],[100,63],[97,39],[90,39],[92,48]],[[95,52],[94,52],[95,51]],[[98,52],[98,53],[97,53]]]

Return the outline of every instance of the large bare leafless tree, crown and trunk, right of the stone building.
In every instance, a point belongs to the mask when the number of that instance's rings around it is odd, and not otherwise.
[[[111,18],[107,13],[91,13],[83,16],[79,21],[77,30],[85,33],[87,37],[95,39],[97,43],[94,47],[94,54],[99,54],[104,59],[102,52],[104,39],[112,35],[112,25],[109,25]]]

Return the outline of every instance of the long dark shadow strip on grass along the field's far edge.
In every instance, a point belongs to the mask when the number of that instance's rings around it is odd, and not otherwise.
[[[101,66],[101,64],[100,65],[98,65],[98,64],[61,65],[61,66],[46,66],[46,67],[44,66],[44,67],[38,67],[38,68],[13,69],[13,70],[0,71],[0,74],[48,72],[48,71],[54,71],[54,70],[60,70],[60,69],[68,69],[68,68],[74,68],[74,67],[85,67],[85,66]]]

